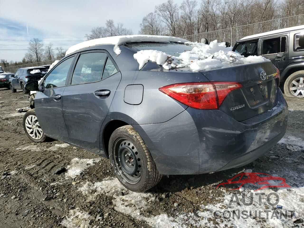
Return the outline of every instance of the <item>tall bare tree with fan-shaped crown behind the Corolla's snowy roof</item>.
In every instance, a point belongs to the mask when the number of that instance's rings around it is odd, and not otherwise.
[[[167,2],[155,6],[155,13],[166,25],[168,32],[172,36],[177,36],[177,26],[179,20],[178,5],[174,4],[173,0],[168,0]]]

